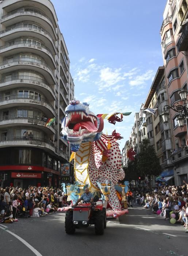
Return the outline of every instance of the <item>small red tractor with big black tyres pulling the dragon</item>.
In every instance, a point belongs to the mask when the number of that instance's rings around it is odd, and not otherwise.
[[[102,235],[106,228],[106,208],[103,204],[83,202],[72,206],[65,216],[65,232],[74,234],[77,227],[95,225],[95,234]]]

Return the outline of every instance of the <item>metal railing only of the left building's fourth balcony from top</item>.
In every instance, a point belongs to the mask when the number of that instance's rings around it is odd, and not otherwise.
[[[45,62],[41,61],[41,60],[36,60],[36,59],[31,59],[31,58],[14,58],[14,59],[10,59],[10,60],[5,60],[3,62],[0,62],[0,66],[5,66],[5,65],[8,65],[8,64],[11,64],[11,63],[15,63],[15,62],[18,62],[18,64],[23,64],[23,63],[20,63],[22,61],[26,61],[26,65],[27,64],[31,64],[32,63],[37,63],[37,64],[40,64],[40,65],[43,65],[44,67],[48,68],[52,75],[54,76],[55,78],[55,75],[53,73],[53,70],[49,67],[49,65],[47,65]]]

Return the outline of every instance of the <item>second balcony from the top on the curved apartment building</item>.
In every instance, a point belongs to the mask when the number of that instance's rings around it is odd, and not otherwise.
[[[16,33],[16,36],[15,36]],[[55,43],[51,34],[42,27],[32,24],[16,24],[0,31],[0,38],[4,41],[14,40],[15,37],[35,37],[45,42],[46,46],[56,53]]]

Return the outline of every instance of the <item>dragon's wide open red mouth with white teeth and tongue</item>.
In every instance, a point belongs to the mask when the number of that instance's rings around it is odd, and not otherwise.
[[[65,131],[68,136],[81,136],[83,133],[97,132],[97,118],[83,111],[68,112]]]

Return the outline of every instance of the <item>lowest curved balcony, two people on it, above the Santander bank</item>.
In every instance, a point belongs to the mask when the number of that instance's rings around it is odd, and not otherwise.
[[[0,137],[0,147],[38,147],[41,149],[48,150],[48,151],[56,151],[54,144],[44,138],[38,138],[38,137],[33,137],[33,138],[24,138],[23,136],[3,136]]]

